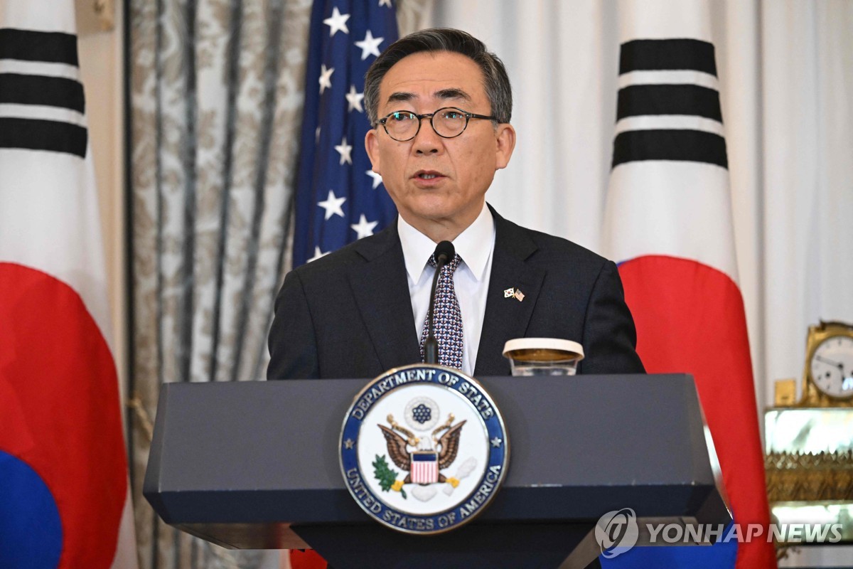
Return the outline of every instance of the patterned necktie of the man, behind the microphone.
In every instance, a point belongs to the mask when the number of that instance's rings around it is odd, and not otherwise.
[[[462,311],[459,299],[453,287],[453,273],[461,263],[455,254],[450,263],[441,268],[438,284],[435,286],[435,339],[438,340],[438,363],[449,368],[462,369]],[[429,264],[436,266],[435,255],[429,258]],[[424,342],[429,334],[429,310],[421,331],[421,360],[424,359]]]

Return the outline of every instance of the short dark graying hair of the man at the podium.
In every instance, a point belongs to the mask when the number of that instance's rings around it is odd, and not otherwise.
[[[382,78],[397,61],[421,51],[450,51],[469,57],[483,72],[483,86],[491,105],[490,114],[499,123],[509,122],[513,114],[513,90],[503,62],[470,33],[442,27],[421,30],[398,39],[370,66],[364,75],[364,103],[371,125],[379,118],[376,115],[379,113],[379,86]]]

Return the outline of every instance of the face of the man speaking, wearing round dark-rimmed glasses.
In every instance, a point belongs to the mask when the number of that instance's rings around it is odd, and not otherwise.
[[[393,111],[422,114],[441,107],[491,114],[483,73],[465,55],[408,55],[382,78],[380,119]],[[452,239],[482,210],[495,171],[513,153],[515,131],[510,125],[495,128],[490,120],[471,119],[460,136],[443,138],[423,119],[412,140],[397,142],[377,125],[368,131],[365,145],[403,219],[433,240]]]

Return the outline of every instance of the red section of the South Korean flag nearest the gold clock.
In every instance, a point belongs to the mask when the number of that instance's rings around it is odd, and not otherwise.
[[[619,276],[647,372],[693,374],[734,521],[762,524],[766,536],[764,455],[740,289],[719,270],[664,256],[627,261]],[[775,567],[773,544],[741,543],[737,565]]]

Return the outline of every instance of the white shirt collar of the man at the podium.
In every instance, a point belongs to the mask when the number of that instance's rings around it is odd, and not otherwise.
[[[403,246],[406,272],[412,282],[420,282],[423,271],[427,268],[427,259],[435,252],[436,244],[427,235],[406,223],[402,216],[397,216],[397,232]],[[488,247],[484,247],[485,243],[489,244]],[[485,276],[486,264],[489,262],[494,243],[495,219],[484,203],[483,211],[474,219],[473,224],[468,225],[453,240],[456,253],[462,258],[461,266],[467,266],[478,281]]]

